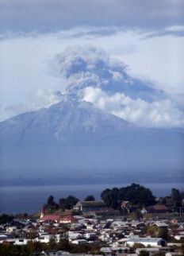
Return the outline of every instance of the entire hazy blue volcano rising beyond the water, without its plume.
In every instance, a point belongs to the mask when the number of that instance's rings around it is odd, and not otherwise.
[[[0,135],[4,179],[182,173],[182,129],[138,128],[90,103],[67,100],[17,115],[0,123]]]

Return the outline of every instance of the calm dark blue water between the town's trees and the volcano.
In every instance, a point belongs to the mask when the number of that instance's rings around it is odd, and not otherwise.
[[[55,200],[65,196],[76,196],[80,200],[88,195],[94,195],[100,199],[100,193],[105,188],[121,188],[128,184],[90,184],[90,185],[61,185],[61,186],[37,186],[37,187],[2,187],[0,188],[0,214],[2,213],[33,213],[39,211],[41,206],[52,195]],[[144,184],[150,188],[155,196],[167,196],[171,188],[184,189],[184,184]]]

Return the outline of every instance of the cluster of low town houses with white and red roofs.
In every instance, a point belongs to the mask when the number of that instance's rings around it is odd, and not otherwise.
[[[137,256],[143,250],[148,255],[171,256],[182,255],[184,222],[159,215],[135,220],[106,208],[102,201],[79,201],[70,214],[63,211],[48,215],[42,210],[38,219],[13,219],[2,225],[0,232],[0,243],[20,246],[30,241],[48,244],[52,239],[56,243],[67,240],[74,245],[99,246],[99,253],[108,256]],[[65,254],[71,255],[60,250],[40,255]]]

